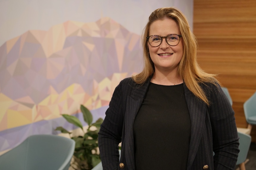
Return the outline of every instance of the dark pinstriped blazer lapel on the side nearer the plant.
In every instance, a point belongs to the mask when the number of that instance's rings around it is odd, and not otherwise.
[[[132,167],[132,169],[135,169],[133,123],[146,95],[150,79],[151,77],[143,85],[135,87],[131,95],[127,97],[125,111],[125,157],[128,158],[126,159],[127,165]]]

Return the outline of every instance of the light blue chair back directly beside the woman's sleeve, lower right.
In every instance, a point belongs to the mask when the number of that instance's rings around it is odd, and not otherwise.
[[[236,165],[239,165],[240,163],[243,163],[246,160],[250,144],[251,144],[251,136],[247,135],[245,133],[238,132],[239,137],[239,150],[238,158]]]

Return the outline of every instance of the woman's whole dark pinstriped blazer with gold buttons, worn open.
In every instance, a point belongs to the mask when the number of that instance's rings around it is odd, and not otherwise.
[[[133,123],[149,82],[150,78],[143,85],[138,85],[129,77],[116,87],[99,131],[99,150],[104,170],[119,170],[119,163],[124,165],[122,169],[135,170]],[[234,111],[220,86],[206,83],[201,87],[211,102],[210,106],[193,95],[184,83],[191,119],[187,170],[207,167],[208,170],[233,170],[239,152]]]

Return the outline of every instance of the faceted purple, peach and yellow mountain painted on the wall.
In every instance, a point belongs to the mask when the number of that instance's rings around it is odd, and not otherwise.
[[[107,106],[142,65],[140,35],[108,17],[29,30],[0,47],[0,131]]]

